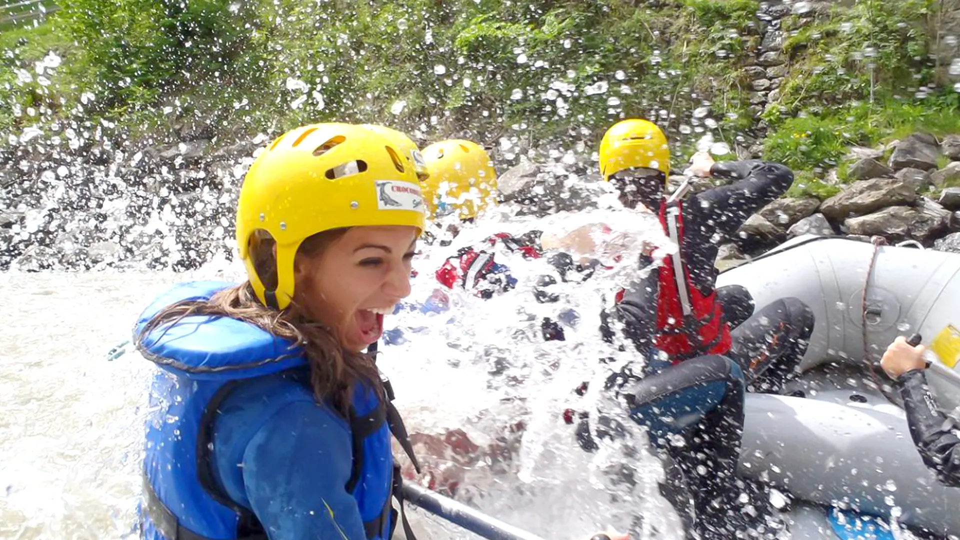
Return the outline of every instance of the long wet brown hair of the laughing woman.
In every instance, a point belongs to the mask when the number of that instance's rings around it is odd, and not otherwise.
[[[321,256],[347,231],[335,229],[308,237],[300,244],[297,257]],[[275,245],[269,233],[254,233],[250,239],[253,267],[268,290],[276,288]],[[230,317],[299,344],[310,365],[310,383],[317,402],[328,403],[345,416],[356,382],[369,385],[381,398],[384,395],[372,355],[344,349],[333,329],[312,320],[296,299],[282,310],[264,306],[256,298],[249,281],[219,291],[209,300],[186,300],[165,307],[144,327],[137,337],[138,345],[142,345],[143,339],[158,327],[190,316]]]

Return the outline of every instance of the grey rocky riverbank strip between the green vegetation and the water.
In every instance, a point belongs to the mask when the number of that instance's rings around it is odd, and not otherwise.
[[[209,140],[72,148],[73,139],[63,139],[0,155],[0,270],[185,270],[232,257],[239,186],[266,136],[222,148]],[[602,191],[584,143],[524,149],[536,161],[509,167],[517,150],[493,153],[501,195],[517,215],[588,208]],[[761,209],[721,246],[720,259],[756,256],[805,233],[879,235],[960,253],[960,135],[918,133],[853,148],[850,157],[843,181],[836,170],[824,181],[840,189],[836,195],[785,197]],[[682,181],[674,176],[669,184]]]

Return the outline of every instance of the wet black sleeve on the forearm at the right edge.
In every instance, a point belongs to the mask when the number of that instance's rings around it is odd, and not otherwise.
[[[898,383],[910,436],[924,464],[945,485],[960,487],[960,438],[953,433],[952,422],[937,407],[924,372],[908,371]]]

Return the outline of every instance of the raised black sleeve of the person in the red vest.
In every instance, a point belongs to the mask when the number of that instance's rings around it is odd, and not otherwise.
[[[693,204],[686,207],[696,209],[701,214],[698,219],[706,219],[728,238],[756,210],[775,201],[793,184],[793,171],[772,161],[721,161],[713,164],[710,174],[734,182],[694,195]]]

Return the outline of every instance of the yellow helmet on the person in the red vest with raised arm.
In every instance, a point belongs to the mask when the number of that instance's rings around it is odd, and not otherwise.
[[[666,136],[649,120],[617,122],[600,140],[600,174],[604,180],[633,168],[656,169],[664,177],[670,174]]]

